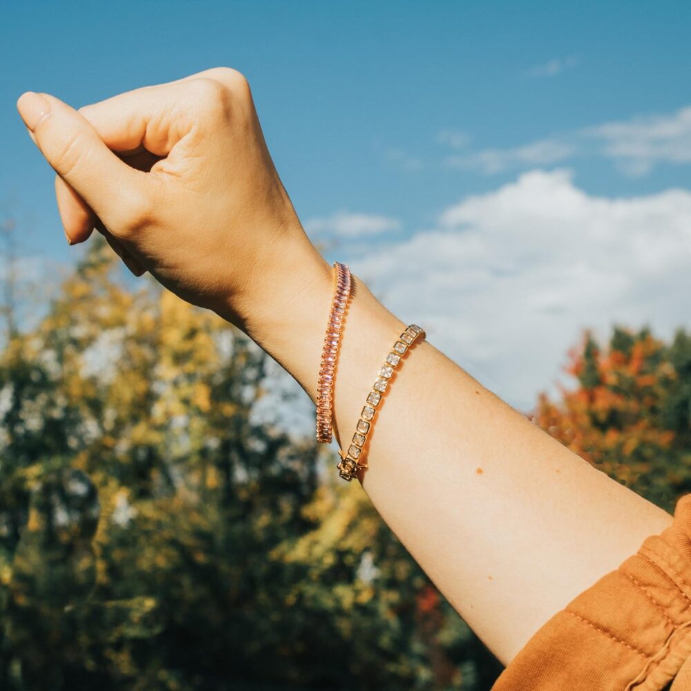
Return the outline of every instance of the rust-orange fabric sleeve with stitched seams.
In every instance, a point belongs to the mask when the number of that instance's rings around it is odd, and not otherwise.
[[[557,612],[492,691],[691,691],[691,493],[674,521]]]

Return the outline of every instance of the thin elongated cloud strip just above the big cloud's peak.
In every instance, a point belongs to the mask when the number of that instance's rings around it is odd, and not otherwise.
[[[501,173],[514,167],[545,165],[565,160],[576,153],[576,147],[559,139],[543,139],[514,149],[484,149],[466,155],[446,158],[455,168],[479,170],[485,175]]]

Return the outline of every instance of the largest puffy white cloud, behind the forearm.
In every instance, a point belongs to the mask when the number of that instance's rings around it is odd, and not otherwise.
[[[570,171],[531,171],[349,263],[401,319],[529,410],[584,328],[689,325],[691,191],[596,197]]]

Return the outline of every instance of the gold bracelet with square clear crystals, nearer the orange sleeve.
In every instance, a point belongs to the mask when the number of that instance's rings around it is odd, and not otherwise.
[[[381,395],[386,391],[394,370],[401,363],[401,357],[406,354],[408,348],[417,339],[424,339],[424,337],[424,329],[417,324],[410,324],[398,337],[393,344],[391,352],[386,356],[386,361],[379,370],[379,377],[372,384],[372,390],[367,395],[365,407],[360,413],[360,419],[357,421],[355,433],[352,435],[352,442],[348,446],[348,451],[344,453],[339,450],[341,462],[339,462],[337,467],[339,468],[339,475],[343,477],[343,480],[350,482],[361,468],[367,468],[367,464],[364,461],[365,453],[363,448],[367,442],[367,435],[374,424],[375,413],[379,410],[377,406],[381,402]]]

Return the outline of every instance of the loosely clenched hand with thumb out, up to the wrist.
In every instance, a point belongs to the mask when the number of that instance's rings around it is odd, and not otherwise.
[[[287,269],[294,276],[308,260],[319,263],[236,70],[206,70],[79,111],[27,92],[17,108],[57,172],[70,243],[96,227],[135,274],[146,269],[241,327],[258,303],[277,299]]]

